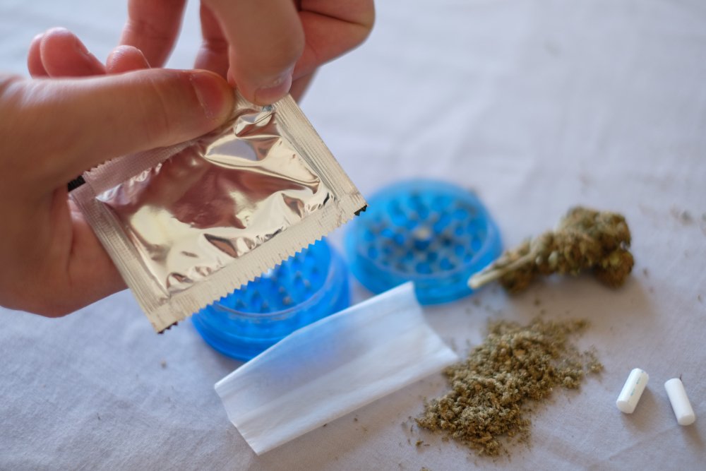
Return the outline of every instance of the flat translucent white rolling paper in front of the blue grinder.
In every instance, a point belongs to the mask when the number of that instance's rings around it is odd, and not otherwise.
[[[457,359],[407,283],[297,330],[215,390],[259,455]]]

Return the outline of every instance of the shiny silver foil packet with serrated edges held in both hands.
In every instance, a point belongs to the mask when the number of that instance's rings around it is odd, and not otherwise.
[[[107,162],[71,191],[157,332],[321,239],[366,202],[294,100],[238,96],[217,131]]]

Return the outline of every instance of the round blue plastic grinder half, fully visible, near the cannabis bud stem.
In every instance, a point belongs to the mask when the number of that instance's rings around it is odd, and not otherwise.
[[[468,278],[502,251],[474,193],[443,181],[403,181],[368,201],[345,239],[349,268],[373,293],[412,280],[421,304],[467,296]]]

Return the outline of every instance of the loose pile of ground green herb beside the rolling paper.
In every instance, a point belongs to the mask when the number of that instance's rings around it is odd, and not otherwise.
[[[452,390],[426,403],[419,427],[443,431],[479,455],[507,452],[506,443],[529,443],[532,400],[558,386],[578,388],[603,369],[594,352],[579,352],[570,336],[585,321],[535,320],[529,326],[493,322],[482,345],[444,375]]]

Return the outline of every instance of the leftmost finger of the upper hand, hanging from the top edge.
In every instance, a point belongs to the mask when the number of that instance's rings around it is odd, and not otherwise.
[[[130,0],[120,44],[134,46],[152,67],[162,67],[179,35],[186,0]]]

